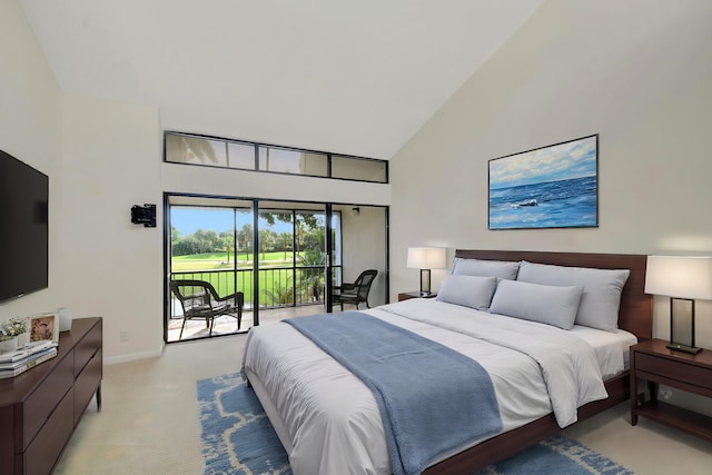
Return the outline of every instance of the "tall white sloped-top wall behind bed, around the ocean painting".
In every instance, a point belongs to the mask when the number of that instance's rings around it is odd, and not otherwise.
[[[711,255],[710,44],[709,1],[546,1],[392,160],[392,297],[408,246]],[[592,133],[599,228],[487,230],[490,159]],[[668,338],[666,299],[654,319]]]

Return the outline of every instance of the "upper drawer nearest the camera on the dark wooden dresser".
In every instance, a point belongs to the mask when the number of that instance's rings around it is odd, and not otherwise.
[[[44,425],[55,407],[73,384],[75,358],[70,352],[22,405],[23,436],[18,448],[26,448]]]

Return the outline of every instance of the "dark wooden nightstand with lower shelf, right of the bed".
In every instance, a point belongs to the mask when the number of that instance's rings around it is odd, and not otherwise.
[[[647,417],[712,442],[712,417],[657,400],[657,385],[712,397],[712,350],[698,355],[668,349],[668,342],[649,339],[631,346],[631,424]],[[647,382],[650,400],[637,395],[637,382]]]

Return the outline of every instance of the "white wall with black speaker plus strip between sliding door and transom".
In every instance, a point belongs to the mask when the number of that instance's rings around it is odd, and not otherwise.
[[[70,285],[62,305],[105,317],[108,363],[162,348],[164,192],[389,200],[384,185],[162,164],[159,116],[151,107],[69,93],[63,99],[61,267]],[[156,228],[130,222],[131,206],[142,204],[158,206]],[[121,331],[129,331],[128,342]]]

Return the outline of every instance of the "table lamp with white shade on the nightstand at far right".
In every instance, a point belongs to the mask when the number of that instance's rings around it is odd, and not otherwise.
[[[670,297],[668,348],[698,354],[694,299],[712,300],[712,257],[647,256],[645,294]]]

